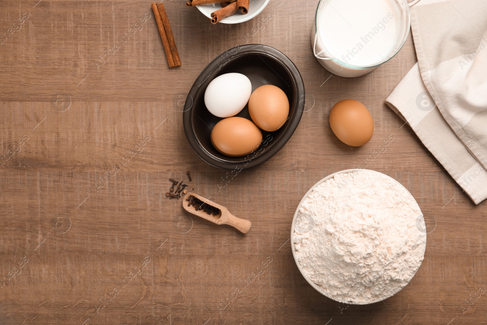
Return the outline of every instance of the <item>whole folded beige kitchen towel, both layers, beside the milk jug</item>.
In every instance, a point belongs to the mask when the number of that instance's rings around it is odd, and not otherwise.
[[[487,1],[421,0],[418,63],[386,103],[475,204],[487,198]]]

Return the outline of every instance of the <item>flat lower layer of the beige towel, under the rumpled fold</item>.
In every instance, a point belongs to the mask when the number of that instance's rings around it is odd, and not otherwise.
[[[455,135],[421,79],[418,63],[386,103],[417,134],[475,204],[487,198],[487,172]]]

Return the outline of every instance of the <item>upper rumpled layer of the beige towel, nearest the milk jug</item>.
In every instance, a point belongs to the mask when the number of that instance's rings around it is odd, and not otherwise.
[[[411,28],[426,88],[486,168],[487,1],[421,0],[411,9]]]

